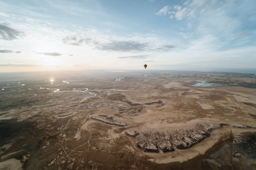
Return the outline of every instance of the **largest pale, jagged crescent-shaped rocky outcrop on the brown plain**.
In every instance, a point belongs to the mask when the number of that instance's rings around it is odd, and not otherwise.
[[[207,138],[211,129],[220,128],[221,124],[197,124],[192,129],[166,131],[127,131],[126,134],[135,137],[135,144],[145,152],[172,152],[175,148],[187,149]]]

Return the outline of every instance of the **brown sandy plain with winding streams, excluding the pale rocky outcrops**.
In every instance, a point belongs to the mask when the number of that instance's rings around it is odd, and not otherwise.
[[[256,168],[254,74],[56,72],[1,80],[0,87],[0,169]],[[125,133],[199,123],[222,126],[167,153],[145,152]]]

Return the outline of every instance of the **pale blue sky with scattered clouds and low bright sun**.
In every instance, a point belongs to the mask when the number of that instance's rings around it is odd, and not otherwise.
[[[0,0],[0,72],[256,69],[256,0]]]

